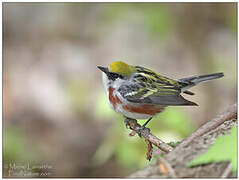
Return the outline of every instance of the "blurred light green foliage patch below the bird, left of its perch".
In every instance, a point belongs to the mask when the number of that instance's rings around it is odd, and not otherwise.
[[[146,164],[144,141],[137,136],[129,137],[129,131],[125,130],[122,116],[116,115],[112,120],[112,126],[108,130],[103,144],[93,157],[94,163],[96,165],[104,164],[114,156],[122,167],[127,167],[129,170],[142,168]]]

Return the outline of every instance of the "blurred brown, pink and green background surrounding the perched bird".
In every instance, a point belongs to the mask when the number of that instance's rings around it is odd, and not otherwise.
[[[148,125],[180,141],[237,101],[236,23],[236,3],[3,3],[4,176],[125,177],[153,163],[109,108],[96,66],[224,72],[184,95],[198,107]]]

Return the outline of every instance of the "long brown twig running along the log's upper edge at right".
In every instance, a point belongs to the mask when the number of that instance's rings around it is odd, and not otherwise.
[[[234,104],[231,105],[226,111],[218,115],[216,118],[212,119],[211,121],[201,126],[198,130],[196,130],[194,133],[192,133],[190,136],[184,139],[176,148],[187,146],[195,138],[211,131],[212,129],[215,129],[225,121],[236,117],[237,117],[237,105]]]

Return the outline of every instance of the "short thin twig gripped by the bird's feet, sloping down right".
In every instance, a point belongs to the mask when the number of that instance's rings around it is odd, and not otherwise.
[[[131,135],[135,134],[135,132],[137,132],[137,130],[140,129],[141,127],[141,125],[138,124],[137,120],[135,119],[130,119],[126,117],[125,122],[130,127],[130,129],[133,130],[133,132],[130,133]],[[168,144],[166,144],[165,142],[163,142],[162,140],[160,140],[159,138],[151,134],[147,129],[143,129],[141,131],[141,136],[145,138],[145,140],[149,141],[150,143],[157,146],[159,149],[161,149],[162,151],[166,153],[173,150],[171,146],[169,146]]]

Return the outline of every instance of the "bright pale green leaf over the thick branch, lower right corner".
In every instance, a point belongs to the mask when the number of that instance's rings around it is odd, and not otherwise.
[[[221,161],[230,161],[233,171],[237,171],[237,126],[230,134],[218,137],[206,153],[189,162],[188,166]]]

